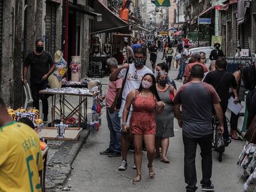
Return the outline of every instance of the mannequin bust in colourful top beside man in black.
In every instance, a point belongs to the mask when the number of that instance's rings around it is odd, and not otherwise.
[[[56,65],[53,74],[49,75],[48,82],[50,87],[61,88],[61,80],[67,72],[67,62],[63,59],[63,53],[61,51],[56,51],[54,54],[54,63]]]

